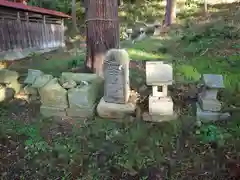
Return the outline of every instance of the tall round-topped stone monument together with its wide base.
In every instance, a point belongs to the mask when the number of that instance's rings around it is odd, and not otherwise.
[[[136,102],[129,102],[129,56],[124,49],[111,49],[104,61],[104,96],[97,112],[102,118],[123,118],[133,113]]]

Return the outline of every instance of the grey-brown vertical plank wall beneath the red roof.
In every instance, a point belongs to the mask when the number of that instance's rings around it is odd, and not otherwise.
[[[0,52],[62,46],[62,19],[0,8]]]

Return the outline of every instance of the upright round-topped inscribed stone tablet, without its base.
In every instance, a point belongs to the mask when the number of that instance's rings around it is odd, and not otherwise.
[[[104,96],[109,103],[127,103],[129,99],[129,56],[124,49],[111,49],[104,61]]]

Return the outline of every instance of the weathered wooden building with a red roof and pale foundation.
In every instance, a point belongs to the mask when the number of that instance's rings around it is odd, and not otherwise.
[[[32,52],[63,47],[65,18],[70,16],[0,0],[0,60],[21,59]]]

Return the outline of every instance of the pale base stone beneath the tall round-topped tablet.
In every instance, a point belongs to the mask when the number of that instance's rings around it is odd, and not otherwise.
[[[110,118],[110,119],[120,119],[124,118],[126,115],[134,113],[136,109],[136,104],[126,103],[126,104],[115,104],[107,103],[101,98],[98,106],[97,112],[101,118]]]

